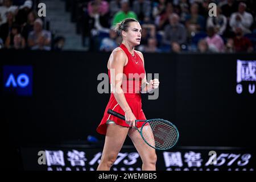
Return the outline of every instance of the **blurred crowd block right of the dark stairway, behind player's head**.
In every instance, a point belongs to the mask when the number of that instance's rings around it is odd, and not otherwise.
[[[209,3],[216,16],[209,16]],[[84,45],[112,51],[121,43],[113,32],[125,18],[139,20],[142,52],[256,51],[255,1],[235,0],[92,0],[80,1]]]

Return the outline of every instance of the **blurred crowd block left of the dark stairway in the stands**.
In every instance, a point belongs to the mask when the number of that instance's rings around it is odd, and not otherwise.
[[[59,50],[64,38],[52,41],[52,34],[44,27],[33,5],[36,1],[0,0],[0,48]]]

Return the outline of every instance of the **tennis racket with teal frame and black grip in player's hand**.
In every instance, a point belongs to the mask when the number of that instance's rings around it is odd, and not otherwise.
[[[119,114],[111,109],[108,114],[125,120],[125,116]],[[170,121],[164,119],[148,119],[148,120],[135,120],[135,122],[144,122],[141,130],[137,127],[139,134],[150,147],[157,150],[168,150],[175,146],[179,139],[179,131],[177,127]]]

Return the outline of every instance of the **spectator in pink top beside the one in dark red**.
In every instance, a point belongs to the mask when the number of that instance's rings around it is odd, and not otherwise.
[[[205,41],[208,47],[217,50],[217,52],[224,52],[224,42],[220,35],[215,34],[214,27],[208,27],[207,34],[208,36],[205,38]]]

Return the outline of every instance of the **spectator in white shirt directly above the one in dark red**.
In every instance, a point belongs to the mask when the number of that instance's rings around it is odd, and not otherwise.
[[[235,31],[237,27],[242,28],[243,34],[251,33],[250,27],[253,24],[253,16],[246,11],[246,4],[240,2],[238,12],[233,13],[230,17],[229,25]]]

